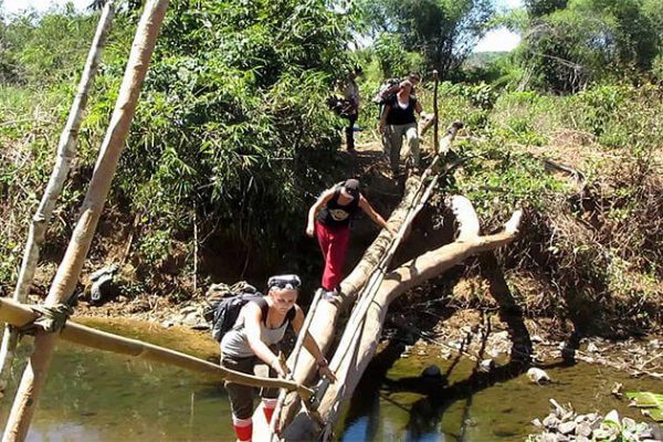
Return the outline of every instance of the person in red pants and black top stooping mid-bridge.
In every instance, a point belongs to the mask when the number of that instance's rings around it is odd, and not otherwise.
[[[326,292],[323,293],[324,298],[329,299],[338,293],[350,241],[350,220],[359,209],[376,224],[392,232],[385,219],[361,194],[359,181],[356,179],[348,179],[325,190],[308,210],[306,234],[317,236],[325,260],[322,281],[322,287]]]

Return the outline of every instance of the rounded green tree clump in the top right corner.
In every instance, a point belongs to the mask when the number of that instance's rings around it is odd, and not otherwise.
[[[539,2],[535,2],[539,3]],[[642,0],[573,0],[533,12],[520,48],[535,86],[576,92],[651,70],[661,50],[661,13]],[[546,12],[547,11],[547,12]]]

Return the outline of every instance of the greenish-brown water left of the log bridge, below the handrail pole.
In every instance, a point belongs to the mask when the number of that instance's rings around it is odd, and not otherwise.
[[[3,403],[0,409],[2,422],[9,407]],[[28,439],[234,440],[228,398],[219,382],[66,343],[59,344]]]

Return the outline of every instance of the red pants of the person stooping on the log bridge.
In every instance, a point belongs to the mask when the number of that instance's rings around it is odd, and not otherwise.
[[[350,228],[330,229],[316,221],[315,234],[325,259],[322,286],[326,291],[333,291],[343,281],[343,264],[350,242]]]

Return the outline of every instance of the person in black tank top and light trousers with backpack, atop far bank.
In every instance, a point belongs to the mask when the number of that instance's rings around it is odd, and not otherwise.
[[[403,137],[408,143],[406,156],[412,157],[412,166],[419,168],[419,129],[414,113],[421,115],[421,103],[412,94],[413,87],[419,83],[419,77],[410,75],[401,82],[399,91],[386,103],[380,115],[378,130],[385,135],[385,150],[391,164],[391,171],[396,175],[400,170],[400,152]]]

